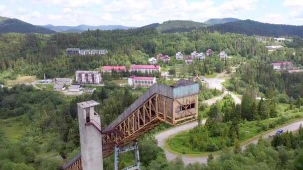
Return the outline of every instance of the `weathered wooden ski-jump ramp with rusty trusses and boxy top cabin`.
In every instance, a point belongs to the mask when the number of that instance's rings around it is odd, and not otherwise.
[[[152,85],[111,125],[101,131],[103,158],[137,140],[161,122],[172,126],[197,118],[199,85],[180,80],[174,86]],[[62,170],[82,170],[81,155]]]

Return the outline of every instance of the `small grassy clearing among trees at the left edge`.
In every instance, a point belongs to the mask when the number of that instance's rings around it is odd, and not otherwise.
[[[18,142],[18,138],[23,134],[24,124],[20,121],[20,117],[0,120],[0,129],[4,135],[13,143]]]

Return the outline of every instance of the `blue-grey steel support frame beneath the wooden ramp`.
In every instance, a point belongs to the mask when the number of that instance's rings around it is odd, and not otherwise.
[[[135,159],[136,159],[136,164],[131,166],[131,167],[127,167],[125,169],[122,170],[141,170],[140,169],[140,157],[139,157],[139,148],[138,148],[138,142],[134,141],[133,146],[130,147],[115,147],[115,170],[119,170],[119,154],[122,154],[124,152],[128,152],[128,151],[133,151],[135,152]]]

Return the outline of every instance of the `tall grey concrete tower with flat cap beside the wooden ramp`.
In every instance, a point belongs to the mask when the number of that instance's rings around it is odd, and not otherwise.
[[[77,103],[80,132],[81,162],[83,170],[103,170],[100,115],[94,100]]]

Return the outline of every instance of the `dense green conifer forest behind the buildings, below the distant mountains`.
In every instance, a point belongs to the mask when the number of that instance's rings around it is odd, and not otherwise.
[[[65,56],[66,48],[108,49],[102,56]],[[85,31],[83,33],[1,34],[0,71],[53,78],[72,75],[76,70],[91,70],[104,65],[147,64],[147,57],[158,53],[174,56],[180,51],[226,51],[229,55],[267,55],[263,44],[239,34],[192,31],[161,34],[157,30]]]

